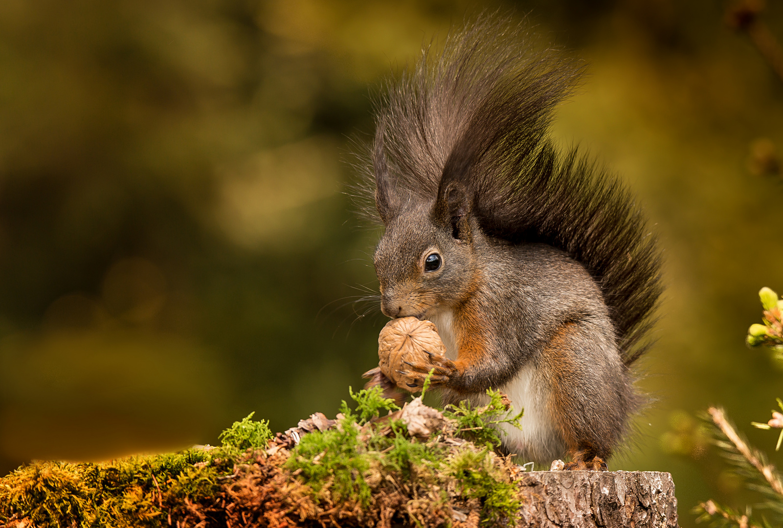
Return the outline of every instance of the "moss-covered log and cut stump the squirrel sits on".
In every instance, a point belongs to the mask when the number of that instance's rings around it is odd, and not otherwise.
[[[0,479],[0,528],[676,523],[673,486],[646,477],[666,474],[525,472],[496,454],[489,425],[520,418],[500,393],[445,411],[420,398],[399,409],[380,388],[351,396],[355,409],[316,413],[276,436],[247,417],[222,447],[23,466]]]

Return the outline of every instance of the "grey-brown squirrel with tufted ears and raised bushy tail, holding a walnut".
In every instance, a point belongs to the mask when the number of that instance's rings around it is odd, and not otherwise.
[[[605,470],[644,403],[630,367],[661,256],[625,186],[550,138],[583,70],[497,16],[425,47],[376,104],[357,196],[385,228],[381,311],[432,321],[446,345],[402,373],[420,386],[435,369],[446,404],[501,390],[525,409],[505,451]]]

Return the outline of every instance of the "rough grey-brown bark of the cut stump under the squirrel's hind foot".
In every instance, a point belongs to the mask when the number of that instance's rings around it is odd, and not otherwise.
[[[518,526],[676,528],[677,497],[669,473],[533,471],[519,481]]]

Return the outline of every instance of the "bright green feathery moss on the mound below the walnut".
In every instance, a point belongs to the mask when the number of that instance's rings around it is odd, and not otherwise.
[[[372,424],[362,426],[381,409],[392,409],[391,400],[384,401],[381,388],[375,387],[359,393],[351,391],[359,414],[344,401],[340,427],[303,436],[285,467],[309,485],[316,497],[328,490],[333,500],[352,500],[363,506],[369,505],[373,493],[366,478],[371,468],[406,482],[414,476],[428,475],[438,489],[454,479],[460,494],[482,501],[482,518],[486,523],[493,525],[501,519],[513,519],[519,507],[516,489],[496,467],[490,447],[500,444],[500,438],[489,425],[501,422],[518,425],[521,413],[509,416],[502,395],[496,391],[488,393],[490,403],[483,408],[474,409],[463,402],[447,413],[460,429],[471,429],[469,436],[490,444],[483,449],[465,444],[464,449],[447,457],[446,448],[437,440],[420,442],[407,436],[402,422],[389,422],[391,431],[385,433]]]

